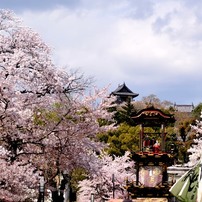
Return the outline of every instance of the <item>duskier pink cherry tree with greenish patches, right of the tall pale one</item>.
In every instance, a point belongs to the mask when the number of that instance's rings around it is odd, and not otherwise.
[[[37,113],[36,121],[48,127],[53,127],[53,132],[46,138],[46,148],[44,149],[44,174],[49,181],[50,189],[58,193],[54,180],[56,176],[63,174],[64,171],[71,172],[74,168],[82,167],[88,172],[98,172],[96,169],[94,152],[100,152],[103,144],[96,139],[98,132],[104,132],[111,126],[99,126],[99,119],[111,119],[111,116],[104,109],[107,109],[108,98],[105,102],[97,105],[97,97],[106,95],[105,91],[97,91],[94,94],[82,96],[82,102],[70,103],[67,105],[56,105],[51,111],[42,110]],[[80,99],[80,98],[79,98]],[[56,113],[55,113],[56,112]],[[64,114],[64,112],[68,112]],[[60,123],[58,125],[58,123]],[[57,125],[57,127],[55,127]],[[51,154],[51,156],[50,156]],[[40,157],[41,161],[41,157]],[[50,169],[51,168],[51,169]]]

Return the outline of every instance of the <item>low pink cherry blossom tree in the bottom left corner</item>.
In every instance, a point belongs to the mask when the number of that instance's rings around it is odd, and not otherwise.
[[[6,150],[0,148],[0,176],[1,176],[1,200],[6,201],[22,201],[29,197],[36,197],[36,194],[27,189],[27,187],[33,188],[38,183],[38,175],[35,174],[33,167],[29,164],[22,165],[21,162],[15,164],[5,161],[3,157],[6,156]]]

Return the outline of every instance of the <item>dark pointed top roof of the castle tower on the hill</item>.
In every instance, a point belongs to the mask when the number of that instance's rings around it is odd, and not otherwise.
[[[119,85],[118,88],[111,93],[112,95],[121,96],[121,97],[137,97],[139,94],[133,93],[125,83]]]

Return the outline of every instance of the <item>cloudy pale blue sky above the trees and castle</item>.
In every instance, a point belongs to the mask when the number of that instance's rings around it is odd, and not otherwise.
[[[57,66],[176,104],[202,102],[202,1],[1,0],[52,48]]]

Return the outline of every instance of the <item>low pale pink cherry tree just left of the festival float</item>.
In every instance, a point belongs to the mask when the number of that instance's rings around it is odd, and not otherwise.
[[[130,160],[129,152],[121,157],[102,154],[97,163],[93,163],[99,172],[80,182],[78,201],[88,202],[91,194],[96,202],[126,197],[126,181],[135,181],[134,162]]]

